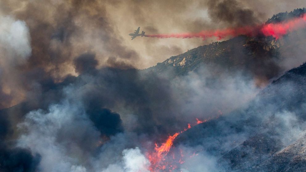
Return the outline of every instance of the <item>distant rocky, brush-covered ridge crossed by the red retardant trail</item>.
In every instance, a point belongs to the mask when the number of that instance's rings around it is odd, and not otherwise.
[[[289,13],[275,14],[267,20],[267,23],[286,21],[287,19],[298,17],[305,12],[306,9],[303,8]],[[292,41],[291,37],[295,41]],[[283,40],[275,40],[272,37],[247,37],[240,35],[236,38],[214,42],[194,48],[183,54],[172,56],[146,70],[158,74],[171,71],[171,75],[176,77],[186,75],[188,72],[203,66],[213,66],[215,67],[213,72],[216,74],[239,71],[260,80],[270,80],[279,77],[283,72],[290,69],[280,65],[278,62],[283,58],[292,58],[292,54],[301,50],[300,47],[305,45],[305,39],[305,35],[298,34],[294,36],[294,33],[289,38],[284,37]],[[280,55],[280,52],[285,53]]]

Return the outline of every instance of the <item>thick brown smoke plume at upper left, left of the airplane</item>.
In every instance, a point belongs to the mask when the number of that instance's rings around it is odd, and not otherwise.
[[[0,41],[5,48],[1,49],[0,108],[37,100],[46,80],[58,82],[77,75],[83,69],[75,70],[74,63],[81,54],[95,54],[99,67],[133,68],[138,62],[138,54],[116,37],[101,2],[2,1],[0,13]]]

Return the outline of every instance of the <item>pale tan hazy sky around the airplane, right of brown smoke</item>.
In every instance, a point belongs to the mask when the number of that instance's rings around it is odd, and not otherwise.
[[[110,1],[113,2],[113,1]],[[213,1],[222,3],[223,1]],[[234,1],[233,1],[234,2]],[[229,1],[229,3],[232,3]],[[237,10],[253,12],[256,22],[265,22],[273,14],[289,12],[295,8],[302,8],[305,5],[303,0],[258,0],[258,1],[237,1]],[[229,8],[229,6],[227,6]],[[234,12],[237,12],[234,11]],[[157,38],[136,38],[133,41],[128,36],[137,27],[146,34],[156,33],[180,33],[198,32],[206,29],[218,29],[234,26],[222,19],[217,19],[215,13],[220,13],[217,8],[212,11],[209,1],[118,1],[108,3],[106,12],[110,22],[113,24],[116,34],[121,37],[127,47],[135,50],[140,56],[140,63],[137,68],[147,68],[156,65],[158,62],[178,55],[187,49],[217,41],[216,39],[157,39]],[[209,13],[211,12],[211,13]],[[226,13],[224,10],[222,12]],[[247,23],[246,23],[247,24]]]

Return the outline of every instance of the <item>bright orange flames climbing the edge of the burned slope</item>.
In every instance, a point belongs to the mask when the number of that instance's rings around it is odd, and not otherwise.
[[[200,121],[197,118],[196,118],[196,121],[197,122],[195,125],[207,122],[207,120]],[[157,172],[160,170],[163,170],[163,171],[168,170],[169,172],[171,172],[177,168],[177,166],[175,165],[176,163],[179,163],[179,164],[184,163],[183,161],[184,155],[183,155],[182,150],[180,150],[180,158],[178,160],[173,154],[172,160],[166,161],[166,156],[169,153],[170,149],[173,147],[173,141],[176,139],[176,137],[180,135],[180,133],[183,133],[184,131],[190,129],[191,127],[192,127],[191,124],[188,124],[187,129],[185,128],[181,132],[174,133],[173,135],[168,136],[167,140],[164,143],[162,143],[160,146],[158,146],[155,143],[154,151],[152,153],[147,154],[147,158],[151,162],[151,166],[149,167],[149,170],[151,172]]]

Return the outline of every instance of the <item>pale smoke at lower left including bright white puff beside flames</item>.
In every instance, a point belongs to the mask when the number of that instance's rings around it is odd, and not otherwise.
[[[67,88],[66,91],[70,95],[71,90]],[[114,142],[110,141],[110,148],[104,148],[108,145],[105,144],[97,149],[100,133],[82,104],[77,102],[66,99],[50,105],[48,110],[31,111],[18,127],[27,131],[19,138],[18,146],[41,155],[39,169],[42,172],[149,172],[150,162],[141,150],[138,147],[126,149],[128,139],[125,136],[134,137],[133,134],[119,133],[111,138]],[[123,150],[122,154],[115,149]],[[100,156],[94,157],[89,151],[97,151]],[[103,166],[107,168],[103,169]]]

